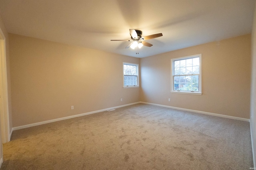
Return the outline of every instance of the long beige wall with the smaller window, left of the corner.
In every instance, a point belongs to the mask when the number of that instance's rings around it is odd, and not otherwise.
[[[140,88],[124,89],[122,82],[123,62],[139,64],[138,58],[15,34],[9,39],[14,127],[139,102]]]

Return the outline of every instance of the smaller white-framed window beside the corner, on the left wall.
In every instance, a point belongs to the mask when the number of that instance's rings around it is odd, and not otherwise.
[[[138,64],[123,63],[124,87],[138,87]]]

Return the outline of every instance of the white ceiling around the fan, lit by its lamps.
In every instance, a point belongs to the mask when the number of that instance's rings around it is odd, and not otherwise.
[[[148,57],[252,31],[254,0],[0,0],[9,33]],[[125,49],[129,29],[152,47]],[[136,55],[136,52],[139,54]]]

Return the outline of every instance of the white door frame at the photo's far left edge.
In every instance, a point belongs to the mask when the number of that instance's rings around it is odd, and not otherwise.
[[[8,86],[6,69],[6,41],[4,33],[0,28],[0,124],[2,143],[10,141]]]

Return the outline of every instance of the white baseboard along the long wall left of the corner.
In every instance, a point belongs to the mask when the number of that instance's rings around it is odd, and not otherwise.
[[[97,110],[97,111],[91,111],[91,112],[82,113],[82,114],[79,114],[79,115],[72,115],[72,116],[62,117],[62,118],[58,118],[58,119],[52,119],[52,120],[48,120],[48,121],[41,121],[41,122],[38,122],[38,123],[32,123],[32,124],[29,124],[29,125],[22,125],[22,126],[18,126],[18,127],[13,127],[13,128],[12,128],[12,131],[15,131],[15,130],[18,130],[18,129],[24,129],[24,128],[27,128],[27,127],[33,127],[33,126],[43,125],[43,124],[46,124],[46,123],[52,123],[52,122],[55,122],[55,121],[61,121],[61,120],[66,120],[66,119],[72,119],[72,118],[75,118],[75,117],[90,115],[90,114],[93,114],[93,113],[99,113],[99,112],[102,112],[102,111],[112,110],[112,109],[116,109],[116,108],[120,108],[120,107],[125,107],[125,106],[130,106],[130,105],[139,104],[139,103],[140,103],[140,102],[131,103],[131,104],[125,104],[125,105],[122,105],[122,106],[110,107],[110,108],[107,108],[107,109],[102,109],[102,110]],[[10,135],[10,136],[11,136],[11,135]]]

